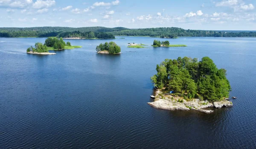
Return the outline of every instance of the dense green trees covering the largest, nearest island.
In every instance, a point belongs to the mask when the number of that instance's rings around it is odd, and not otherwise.
[[[157,74],[152,83],[160,89],[172,90],[184,98],[198,97],[201,100],[219,101],[229,97],[230,83],[226,70],[218,69],[209,57],[178,57],[166,59],[157,65]]]

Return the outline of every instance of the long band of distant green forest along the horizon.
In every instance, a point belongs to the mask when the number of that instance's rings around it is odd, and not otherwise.
[[[128,29],[123,27],[32,27],[0,28],[0,37],[81,37],[112,39],[114,36],[150,36],[150,37],[256,37],[254,31],[206,31],[186,30],[176,27]]]

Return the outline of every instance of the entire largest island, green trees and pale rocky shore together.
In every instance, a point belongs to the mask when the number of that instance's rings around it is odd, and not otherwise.
[[[157,74],[151,77],[155,99],[148,103],[154,108],[212,113],[207,108],[233,106],[228,101],[231,87],[226,70],[218,69],[209,57],[199,62],[189,57],[166,59],[156,70]]]

